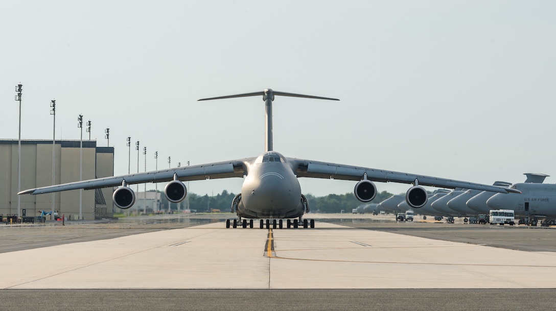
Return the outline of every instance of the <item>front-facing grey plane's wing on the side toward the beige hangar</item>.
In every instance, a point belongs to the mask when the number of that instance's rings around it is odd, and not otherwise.
[[[43,194],[75,189],[97,189],[107,187],[118,187],[123,181],[130,184],[169,182],[174,179],[174,174],[179,180],[202,180],[216,178],[243,177],[247,173],[247,166],[255,158],[245,158],[224,162],[215,162],[187,167],[176,167],[168,169],[153,170],[152,172],[133,173],[128,175],[112,176],[83,180],[59,185],[51,185],[34,189],[27,189],[18,194]]]

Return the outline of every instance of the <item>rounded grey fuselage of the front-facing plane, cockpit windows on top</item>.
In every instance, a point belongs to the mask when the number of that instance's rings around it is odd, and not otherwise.
[[[301,186],[277,152],[260,155],[248,168],[237,215],[245,218],[295,218],[304,214]]]

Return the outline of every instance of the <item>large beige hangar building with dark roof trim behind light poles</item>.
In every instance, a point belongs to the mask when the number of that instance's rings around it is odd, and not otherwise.
[[[18,141],[0,139],[0,214],[17,210]],[[80,141],[54,144],[54,183],[80,180]],[[83,141],[83,180],[114,174],[114,147],[97,147],[96,141]],[[21,141],[21,190],[52,185],[52,141]],[[83,190],[82,216],[92,220],[112,217],[113,188]],[[54,193],[54,210],[59,216],[78,219],[80,190]],[[52,193],[20,195],[20,215],[32,217],[52,210]]]

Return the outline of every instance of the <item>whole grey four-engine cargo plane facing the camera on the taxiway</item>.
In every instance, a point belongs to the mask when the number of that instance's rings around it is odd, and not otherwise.
[[[249,96],[262,96],[262,100],[265,102],[265,152],[259,157],[84,180],[28,189],[19,194],[42,194],[73,189],[120,186],[113,193],[114,204],[119,208],[127,209],[135,203],[135,193],[128,187],[130,184],[169,182],[164,189],[166,198],[170,202],[177,203],[185,199],[187,195],[187,189],[183,181],[239,177],[244,178],[244,183],[241,187],[241,193],[232,201],[232,212],[237,214],[237,219],[232,222],[233,227],[241,225],[246,228],[249,225],[252,228],[253,219],[260,219],[260,228],[262,229],[264,219],[266,219],[267,228],[270,227],[271,220],[272,227],[276,228],[276,219],[279,220],[280,228],[282,228],[282,219],[287,219],[288,228],[290,228],[290,225],[293,225],[294,228],[297,228],[298,225],[302,225],[304,228],[309,226],[314,228],[314,220],[311,219],[310,222],[307,222],[307,219],[302,218],[305,213],[309,212],[309,203],[305,195],[301,193],[301,187],[297,180],[299,177],[354,180],[357,182],[354,189],[355,197],[361,202],[370,202],[375,197],[376,186],[373,182],[413,184],[406,193],[405,199],[414,208],[422,207],[427,201],[426,190],[421,185],[478,189],[499,193],[518,192],[517,190],[493,185],[353,165],[287,158],[274,151],[272,146],[272,102],[275,96],[328,99],[332,101],[338,101],[339,99],[265,89],[262,92],[203,98],[199,101]],[[249,224],[247,219],[250,219]],[[291,222],[291,219],[294,219],[293,222]],[[226,222],[226,227],[230,227],[230,220]]]

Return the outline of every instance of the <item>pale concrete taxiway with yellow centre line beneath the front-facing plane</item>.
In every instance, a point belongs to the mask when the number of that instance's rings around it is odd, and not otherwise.
[[[556,288],[556,253],[318,223],[223,223],[0,254],[2,289]],[[274,242],[274,252],[265,248]],[[270,256],[269,256],[270,255]]]

